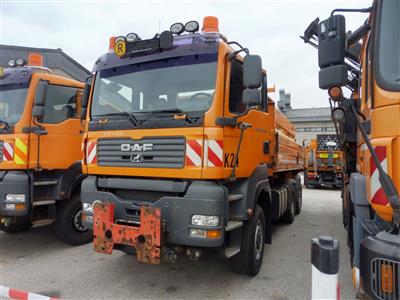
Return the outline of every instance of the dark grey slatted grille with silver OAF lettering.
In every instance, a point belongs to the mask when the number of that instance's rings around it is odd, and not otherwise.
[[[99,139],[97,164],[130,168],[182,168],[185,138]]]

